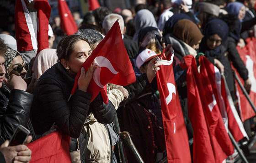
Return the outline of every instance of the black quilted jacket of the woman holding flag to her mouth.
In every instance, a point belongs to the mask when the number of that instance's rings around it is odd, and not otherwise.
[[[74,82],[61,63],[49,68],[35,88],[31,120],[35,133],[40,135],[55,123],[59,130],[72,137],[70,151],[76,150],[76,138],[79,138],[84,163],[88,142],[83,128],[86,117],[92,112],[100,123],[109,124],[114,120],[116,109],[110,101],[104,104],[101,95],[90,104],[91,94],[79,89],[68,101]]]

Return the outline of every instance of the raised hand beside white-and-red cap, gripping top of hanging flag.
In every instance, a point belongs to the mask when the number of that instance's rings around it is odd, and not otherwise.
[[[158,66],[162,65],[162,63],[155,63],[157,59],[159,59],[159,57],[151,59],[151,61],[148,64],[147,77],[148,77],[149,83],[151,83],[152,80],[155,78],[156,72],[160,70]]]

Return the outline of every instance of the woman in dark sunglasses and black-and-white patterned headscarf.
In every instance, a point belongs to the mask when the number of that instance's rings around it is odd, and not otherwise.
[[[21,76],[22,79],[26,80],[26,75],[28,71],[28,63],[21,53],[7,47],[7,52],[4,54],[5,58],[5,78],[9,81],[12,74]],[[30,84],[27,86],[27,92],[32,93],[34,86],[37,83],[37,79],[33,76]]]

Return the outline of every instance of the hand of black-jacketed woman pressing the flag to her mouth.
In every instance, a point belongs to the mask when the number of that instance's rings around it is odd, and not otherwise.
[[[92,74],[94,70],[97,68],[97,65],[94,65],[94,61],[91,63],[91,66],[88,68],[88,70],[85,73],[85,68],[81,68],[81,74],[78,79],[77,85],[78,89],[87,92],[88,85],[91,82]]]

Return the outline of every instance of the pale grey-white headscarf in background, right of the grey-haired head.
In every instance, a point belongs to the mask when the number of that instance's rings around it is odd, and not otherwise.
[[[138,42],[139,30],[141,30],[142,28],[147,26],[153,26],[157,28],[154,15],[152,14],[152,12],[150,12],[147,9],[143,9],[137,12],[134,18],[134,23],[135,23],[135,33],[133,36],[133,40],[135,42]]]

